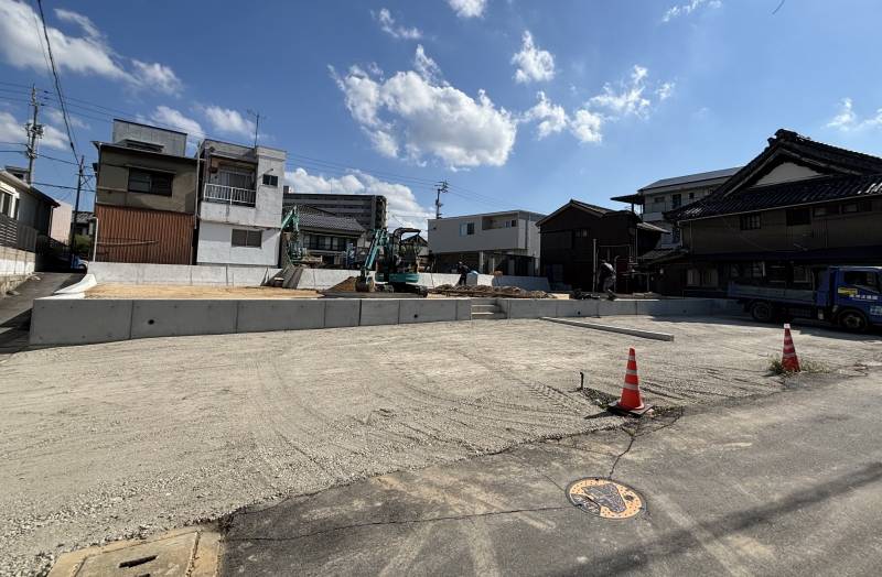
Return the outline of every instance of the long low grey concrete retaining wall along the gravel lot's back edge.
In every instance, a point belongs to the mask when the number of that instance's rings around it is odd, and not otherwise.
[[[470,298],[84,300],[34,301],[31,344],[84,345],[130,338],[262,333],[469,320]],[[491,301],[492,300],[482,300]],[[508,318],[738,313],[713,298],[562,301],[499,298]],[[504,325],[501,325],[504,330]]]

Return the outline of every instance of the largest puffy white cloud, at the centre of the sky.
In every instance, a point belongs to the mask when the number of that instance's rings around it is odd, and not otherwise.
[[[421,72],[398,72],[386,80],[357,66],[345,76],[331,68],[353,119],[377,151],[416,162],[433,156],[451,168],[504,165],[517,120],[483,90],[472,98],[439,81],[438,66],[421,47],[417,63]]]

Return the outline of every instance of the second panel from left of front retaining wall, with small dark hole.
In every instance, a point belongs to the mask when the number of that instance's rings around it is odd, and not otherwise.
[[[236,301],[133,301],[131,338],[236,333]]]

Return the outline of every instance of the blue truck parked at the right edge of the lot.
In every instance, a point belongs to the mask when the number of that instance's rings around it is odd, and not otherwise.
[[[729,284],[756,320],[816,318],[848,330],[882,326],[882,266],[828,266],[816,270],[815,288]]]

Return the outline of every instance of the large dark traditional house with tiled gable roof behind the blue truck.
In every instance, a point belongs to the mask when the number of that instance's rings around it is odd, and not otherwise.
[[[882,263],[882,159],[778,130],[711,195],[666,218],[682,235],[681,255],[659,270],[668,292],[811,287],[816,268]]]

